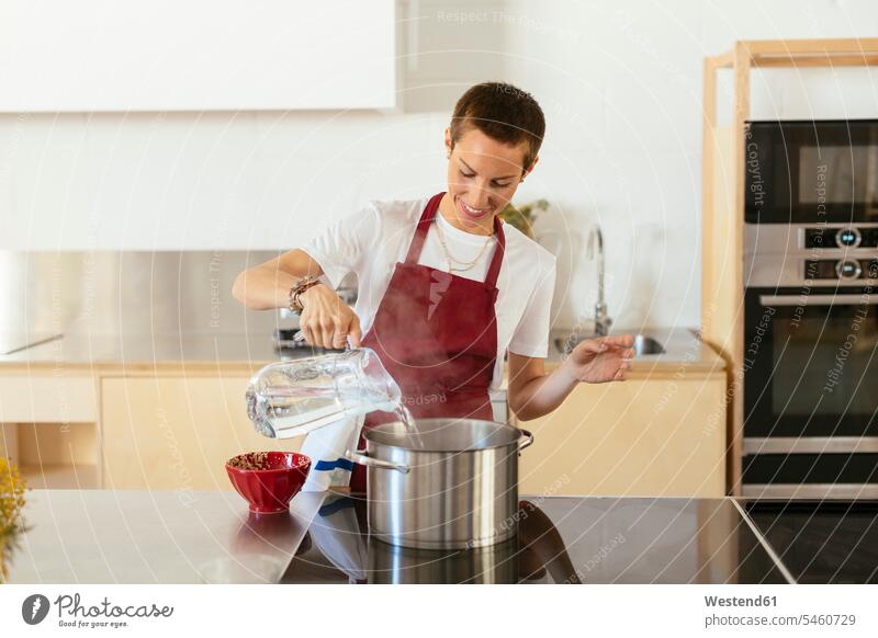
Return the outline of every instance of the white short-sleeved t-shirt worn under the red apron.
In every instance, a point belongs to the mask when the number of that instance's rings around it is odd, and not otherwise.
[[[358,277],[354,311],[363,335],[369,332],[379,304],[397,262],[405,261],[417,223],[429,198],[370,202],[364,208],[326,228],[302,247],[337,287],[348,273]],[[446,244],[455,262],[471,262],[489,241],[473,269],[455,275],[485,281],[496,240],[459,230],[437,212],[420,253],[419,264],[448,272],[448,261],[437,236],[441,225]],[[555,258],[509,224],[503,225],[506,251],[497,277],[497,362],[492,389],[503,384],[507,350],[544,358],[549,352],[549,314],[555,283]],[[460,263],[454,267],[463,267]],[[461,309],[461,311],[464,311]]]

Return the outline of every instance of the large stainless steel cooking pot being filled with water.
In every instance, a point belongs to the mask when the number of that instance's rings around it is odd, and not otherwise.
[[[367,466],[369,533],[426,549],[475,548],[518,528],[518,454],[533,435],[474,419],[391,422],[348,458]]]

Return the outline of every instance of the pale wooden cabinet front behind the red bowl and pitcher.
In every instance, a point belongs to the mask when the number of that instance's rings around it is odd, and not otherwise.
[[[225,462],[244,452],[296,452],[301,440],[254,430],[246,377],[103,378],[103,485],[110,489],[228,490]]]

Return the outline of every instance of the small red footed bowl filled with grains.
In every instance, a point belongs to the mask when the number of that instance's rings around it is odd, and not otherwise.
[[[290,509],[311,470],[311,459],[295,452],[269,452],[268,469],[241,469],[229,465],[235,459],[254,460],[255,452],[239,454],[226,462],[226,472],[235,490],[250,503],[250,511],[275,514]]]

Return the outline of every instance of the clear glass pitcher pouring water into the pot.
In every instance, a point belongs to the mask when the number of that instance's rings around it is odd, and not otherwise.
[[[373,350],[267,365],[247,385],[247,414],[271,438],[290,438],[373,410],[392,412],[402,392]]]

